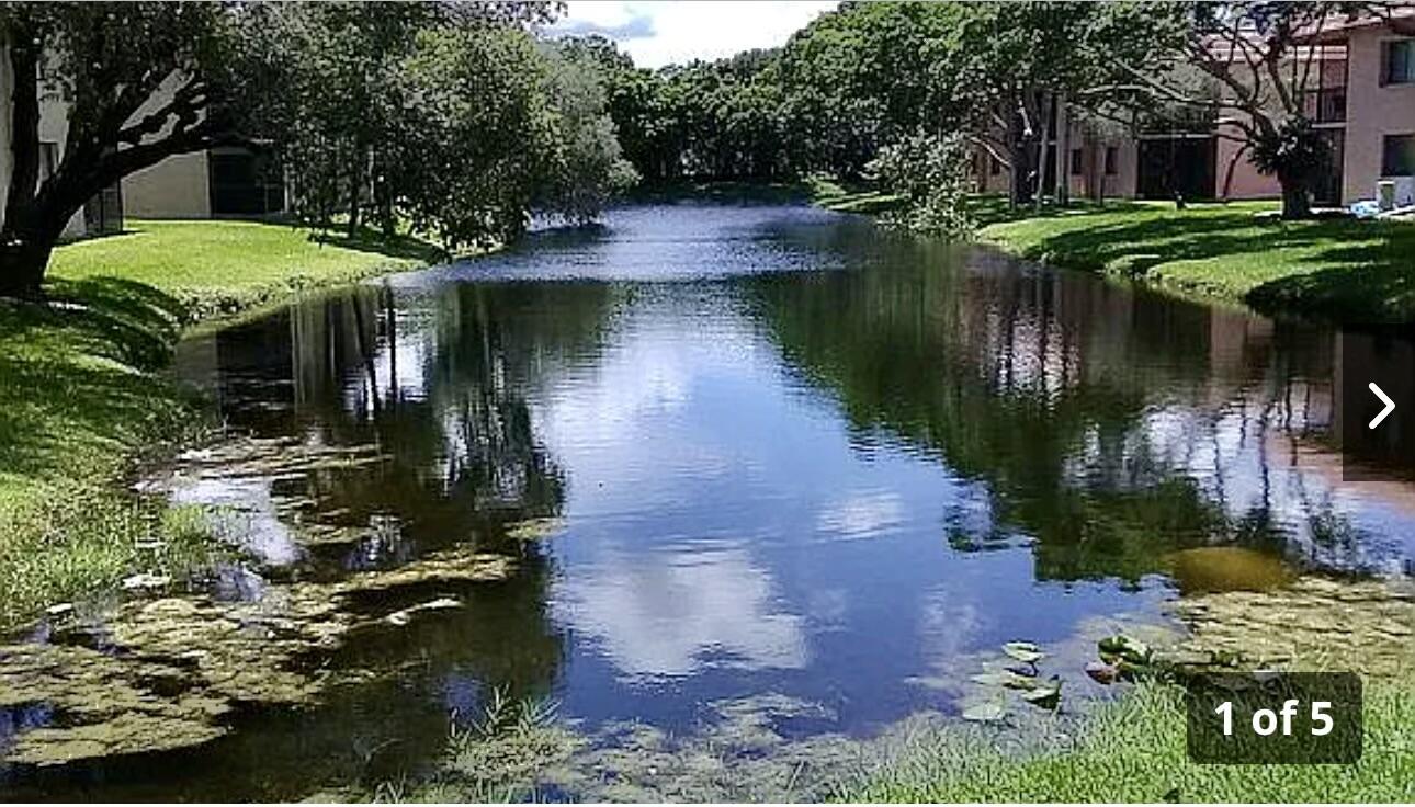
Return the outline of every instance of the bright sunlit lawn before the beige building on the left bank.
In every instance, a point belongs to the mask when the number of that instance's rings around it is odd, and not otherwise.
[[[410,269],[437,257],[424,242],[318,242],[303,228],[259,222],[126,222],[123,235],[61,246],[50,277],[120,277],[158,288],[195,321],[273,302],[291,291]]]

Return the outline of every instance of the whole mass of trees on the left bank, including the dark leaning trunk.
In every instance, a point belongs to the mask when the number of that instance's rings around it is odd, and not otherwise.
[[[552,3],[3,3],[14,165],[0,295],[134,171],[218,144],[279,157],[293,212],[449,247],[583,222],[633,181],[599,62],[538,42]],[[41,170],[41,98],[64,103]]]

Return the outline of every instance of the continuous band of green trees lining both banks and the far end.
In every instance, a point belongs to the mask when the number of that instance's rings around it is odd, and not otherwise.
[[[1013,202],[1041,199],[1049,177],[1064,199],[1056,154],[1061,122],[1078,117],[1237,140],[1300,216],[1329,157],[1312,126],[1323,28],[1388,14],[1278,0],[845,1],[781,48],[644,69],[601,37],[546,40],[539,25],[559,10],[0,3],[14,79],[0,294],[38,291],[65,222],[103,188],[225,143],[279,157],[304,222],[410,225],[454,249],[515,237],[535,213],[593,219],[637,178],[877,177],[920,205],[906,218],[945,222],[982,151],[1009,170]],[[42,171],[48,95],[67,105],[67,136]]]

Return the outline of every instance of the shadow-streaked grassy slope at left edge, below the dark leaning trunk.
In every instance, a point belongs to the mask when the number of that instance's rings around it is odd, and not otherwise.
[[[132,571],[185,567],[201,543],[125,485],[132,462],[200,428],[158,375],[178,304],[110,278],[50,294],[0,302],[0,628]]]

